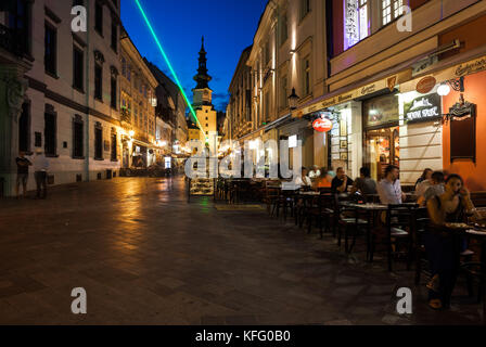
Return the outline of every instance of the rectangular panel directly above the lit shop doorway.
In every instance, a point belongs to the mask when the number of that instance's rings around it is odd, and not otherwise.
[[[387,94],[362,103],[364,128],[398,123],[398,98]]]

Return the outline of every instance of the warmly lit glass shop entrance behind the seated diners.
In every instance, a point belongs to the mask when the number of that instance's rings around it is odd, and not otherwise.
[[[368,130],[364,133],[364,165],[370,168],[371,178],[381,180],[388,165],[399,166],[399,128]]]

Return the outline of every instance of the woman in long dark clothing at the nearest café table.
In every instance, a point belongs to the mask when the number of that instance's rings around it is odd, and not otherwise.
[[[447,178],[445,193],[429,200],[427,210],[432,222],[423,241],[433,277],[427,284],[429,306],[448,308],[460,265],[461,237],[447,223],[465,222],[468,215],[477,218],[478,214],[459,175]]]

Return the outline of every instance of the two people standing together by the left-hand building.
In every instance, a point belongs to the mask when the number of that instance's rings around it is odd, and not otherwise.
[[[15,184],[16,197],[20,198],[21,185],[23,189],[22,196],[25,197],[27,193],[27,183],[29,177],[29,167],[34,168],[34,178],[37,185],[37,198],[47,198],[48,195],[48,169],[49,160],[46,158],[41,149],[37,149],[34,156],[27,158],[25,152],[20,152],[15,158],[17,165],[17,179]]]

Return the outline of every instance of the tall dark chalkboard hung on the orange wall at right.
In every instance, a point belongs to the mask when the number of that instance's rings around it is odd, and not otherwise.
[[[450,113],[450,162],[472,159],[476,163],[476,105],[456,104]]]

